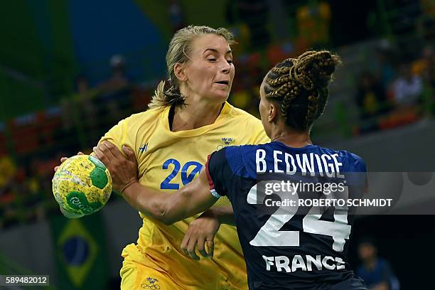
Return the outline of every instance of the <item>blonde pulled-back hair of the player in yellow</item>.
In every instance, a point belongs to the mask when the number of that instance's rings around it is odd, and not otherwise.
[[[187,26],[177,31],[169,43],[166,53],[166,67],[168,69],[168,80],[162,80],[156,87],[154,96],[149,103],[149,108],[180,106],[184,104],[186,97],[181,95],[178,87],[178,80],[173,71],[176,63],[186,63],[192,50],[193,40],[205,34],[222,36],[229,45],[235,44],[234,36],[225,28],[210,28],[208,26]],[[165,87],[168,87],[167,89]]]

